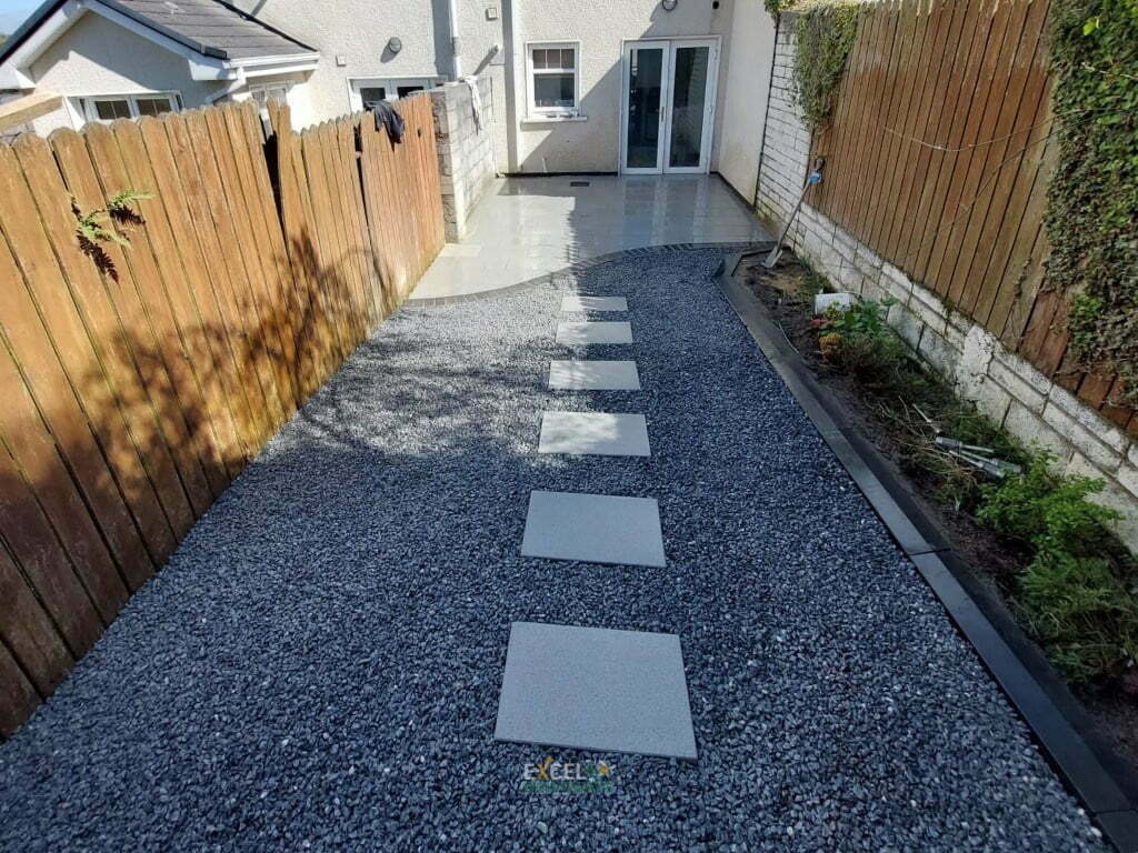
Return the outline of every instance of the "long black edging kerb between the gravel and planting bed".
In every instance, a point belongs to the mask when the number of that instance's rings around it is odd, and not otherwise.
[[[851,425],[844,406],[822,387],[767,314],[734,280],[742,254],[727,257],[717,281],[799,405],[814,422],[889,532],[916,565],[960,633],[1028,723],[1048,760],[1120,853],[1138,852],[1138,810],[1127,789],[1136,780],[1090,734],[1086,712],[1001,604],[978,594],[965,563],[889,471],[881,454]]]

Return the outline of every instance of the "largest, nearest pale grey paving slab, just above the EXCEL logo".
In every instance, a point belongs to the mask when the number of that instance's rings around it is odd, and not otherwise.
[[[514,622],[494,738],[694,761],[679,637]]]

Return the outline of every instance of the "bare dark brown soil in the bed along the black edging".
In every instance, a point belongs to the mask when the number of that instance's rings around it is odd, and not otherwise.
[[[873,441],[916,504],[967,564],[974,580],[1014,613],[1008,585],[1026,565],[1030,555],[1015,543],[981,525],[970,513],[939,500],[935,475],[905,458],[896,428],[865,404],[866,389],[825,362],[818,351],[813,325],[813,296],[805,292],[806,273],[806,268],[793,259],[784,260],[773,273],[765,271],[759,260],[744,259],[737,274],[762,300],[818,382],[844,405],[861,434]],[[1127,696],[1118,686],[1070,687],[1087,711],[1096,729],[1094,734],[1113,746],[1118,757],[1138,778],[1138,699]]]

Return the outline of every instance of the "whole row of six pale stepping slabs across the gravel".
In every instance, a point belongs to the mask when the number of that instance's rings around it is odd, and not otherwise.
[[[628,310],[625,297],[566,296],[562,312]],[[566,346],[632,343],[627,322],[562,322]],[[635,362],[554,361],[550,388],[641,389]],[[546,412],[542,454],[650,456],[644,415]],[[613,463],[617,464],[617,463]],[[662,569],[652,498],[533,491],[522,556]],[[497,740],[696,757],[679,637],[514,622],[498,698]]]

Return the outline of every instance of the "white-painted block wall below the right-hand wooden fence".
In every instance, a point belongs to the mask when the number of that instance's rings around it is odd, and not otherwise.
[[[806,182],[809,156],[809,131],[789,89],[794,57],[792,16],[783,15],[756,197],[759,216],[773,229],[782,226],[793,207]],[[1104,480],[1106,489],[1097,499],[1123,514],[1118,532],[1138,550],[1138,442],[815,210],[809,196],[786,240],[835,289],[877,301],[896,299],[890,325],[960,396],[1007,432],[1050,448],[1067,473]]]

